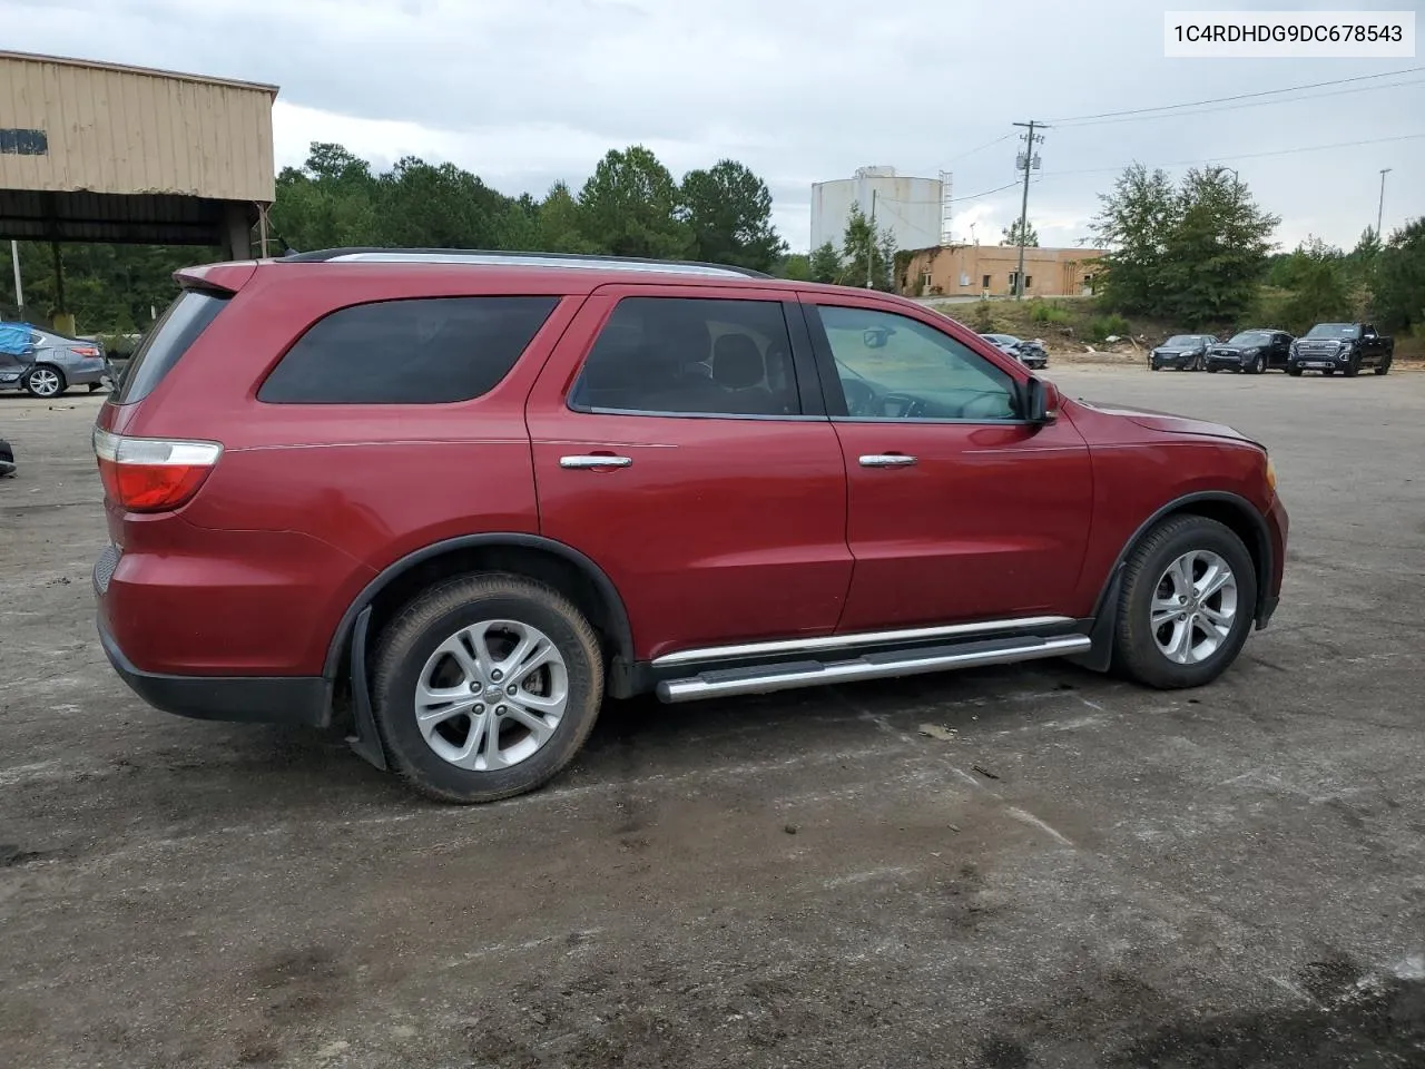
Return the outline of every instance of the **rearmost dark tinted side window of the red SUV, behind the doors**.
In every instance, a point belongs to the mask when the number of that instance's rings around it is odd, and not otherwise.
[[[341,308],[272,369],[258,401],[439,405],[492,391],[557,296],[437,296]]]

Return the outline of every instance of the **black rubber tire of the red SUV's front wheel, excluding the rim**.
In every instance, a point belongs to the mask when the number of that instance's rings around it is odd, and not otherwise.
[[[1167,567],[1191,550],[1210,550],[1227,562],[1237,580],[1237,613],[1227,639],[1196,664],[1176,664],[1159,649],[1151,627],[1151,601]],[[1163,520],[1129,554],[1119,594],[1113,661],[1129,678],[1159,690],[1201,687],[1237,659],[1253,627],[1257,570],[1243,540],[1206,516]]]

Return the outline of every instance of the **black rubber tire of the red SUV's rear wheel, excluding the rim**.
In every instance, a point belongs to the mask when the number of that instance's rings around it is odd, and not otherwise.
[[[420,734],[415,714],[428,659],[462,627],[483,620],[543,631],[563,657],[569,681],[569,703],[553,735],[523,761],[492,771],[446,761]],[[392,767],[420,794],[445,802],[496,801],[551,780],[589,738],[604,694],[598,636],[583,613],[553,587],[504,573],[452,579],[412,600],[382,630],[373,663],[372,713]]]

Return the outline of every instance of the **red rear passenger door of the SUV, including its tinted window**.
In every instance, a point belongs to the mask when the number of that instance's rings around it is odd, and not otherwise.
[[[835,629],[846,479],[794,292],[603,286],[527,423],[540,532],[608,574],[641,660]]]

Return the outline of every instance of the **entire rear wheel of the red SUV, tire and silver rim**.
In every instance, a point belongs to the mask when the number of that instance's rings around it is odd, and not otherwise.
[[[583,613],[512,574],[452,579],[382,631],[373,714],[396,771],[449,802],[533,791],[598,718],[604,668]]]

